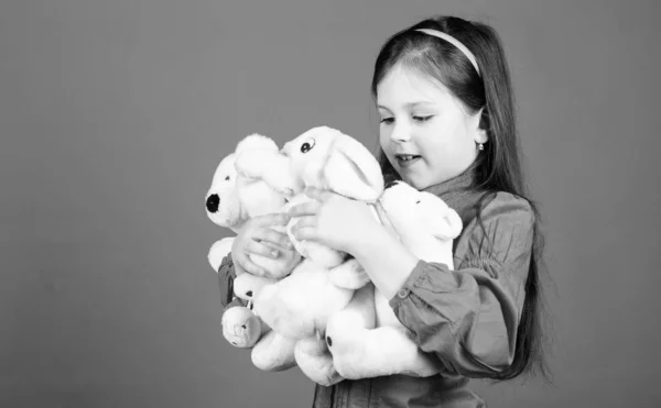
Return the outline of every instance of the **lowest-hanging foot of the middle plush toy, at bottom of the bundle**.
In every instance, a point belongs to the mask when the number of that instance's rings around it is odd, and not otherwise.
[[[294,355],[301,371],[319,385],[327,387],[344,379],[333,365],[333,355],[323,337],[313,335],[300,340],[294,349]]]

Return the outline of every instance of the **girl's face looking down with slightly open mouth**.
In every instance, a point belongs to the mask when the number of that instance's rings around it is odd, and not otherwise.
[[[438,81],[394,66],[377,87],[379,141],[402,180],[419,190],[448,180],[475,161],[481,111],[464,103]]]

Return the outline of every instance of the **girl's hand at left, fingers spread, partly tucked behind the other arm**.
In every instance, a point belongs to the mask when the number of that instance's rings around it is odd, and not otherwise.
[[[291,255],[286,252],[295,251],[286,233],[271,229],[278,225],[284,228],[290,218],[285,213],[273,213],[256,217],[243,224],[231,246],[231,258],[237,272],[264,276],[267,271],[252,262],[250,254],[277,260],[280,256]]]

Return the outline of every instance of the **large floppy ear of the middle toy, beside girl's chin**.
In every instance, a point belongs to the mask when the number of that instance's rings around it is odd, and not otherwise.
[[[383,192],[383,175],[376,157],[346,134],[334,140],[323,172],[328,187],[340,195],[373,201]]]

